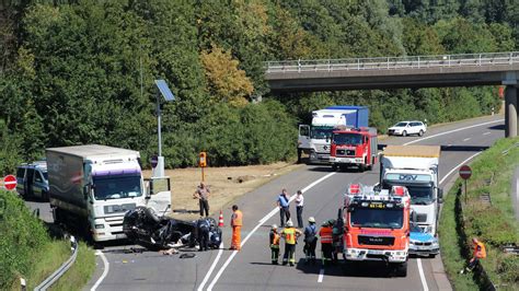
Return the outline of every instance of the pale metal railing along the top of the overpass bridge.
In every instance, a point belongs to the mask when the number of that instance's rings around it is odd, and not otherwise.
[[[267,73],[426,69],[519,63],[519,51],[437,56],[267,61]]]

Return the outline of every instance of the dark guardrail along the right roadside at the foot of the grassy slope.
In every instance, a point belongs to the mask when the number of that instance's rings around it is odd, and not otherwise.
[[[463,216],[463,203],[461,199],[461,184],[458,188],[455,195],[455,205],[454,205],[454,216],[457,220],[457,232],[459,234],[459,243],[461,246],[462,254],[465,258],[471,257],[471,247],[466,244],[466,233],[465,233],[465,218]],[[474,268],[474,273],[476,275],[476,282],[480,286],[481,290],[496,291],[496,286],[492,282],[491,278],[486,273],[483,265],[478,264]]]

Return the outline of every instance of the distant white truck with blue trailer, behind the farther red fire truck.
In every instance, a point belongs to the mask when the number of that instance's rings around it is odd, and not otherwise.
[[[311,163],[328,163],[333,129],[336,126],[367,127],[368,119],[369,109],[366,106],[328,106],[312,112],[311,125],[299,126],[298,162],[305,153]]]

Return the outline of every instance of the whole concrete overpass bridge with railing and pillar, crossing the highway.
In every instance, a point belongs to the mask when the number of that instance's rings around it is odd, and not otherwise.
[[[506,85],[506,137],[518,135],[519,51],[268,61],[277,93],[362,89]]]

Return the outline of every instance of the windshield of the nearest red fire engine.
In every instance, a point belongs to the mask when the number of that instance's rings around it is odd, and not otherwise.
[[[376,229],[401,229],[404,222],[402,208],[356,208],[350,212],[351,226]]]

